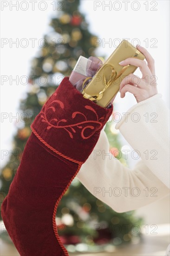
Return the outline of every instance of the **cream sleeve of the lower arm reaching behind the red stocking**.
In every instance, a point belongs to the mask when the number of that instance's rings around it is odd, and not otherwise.
[[[144,113],[141,115],[144,115]],[[124,122],[124,124],[127,124],[127,122]],[[132,126],[133,123],[131,123],[130,128],[126,128],[122,123],[121,132],[127,141]],[[142,140],[139,139],[141,132],[143,132],[143,129],[138,127],[136,143]],[[144,144],[150,137],[148,131],[147,133],[145,131],[145,134],[148,136],[144,136],[145,140],[143,138],[142,142]],[[131,136],[133,136],[133,133]],[[137,143],[138,148],[136,148],[139,151],[141,148],[143,149],[140,142]],[[155,167],[153,161],[151,161],[153,167],[150,165],[152,170]],[[167,169],[163,168],[159,177],[156,175],[157,172],[152,170],[148,168],[143,159],[137,162],[132,170],[125,167],[118,159],[115,159],[109,152],[109,141],[103,129],[95,148],[80,168],[77,177],[92,195],[105,202],[113,210],[125,212],[138,209],[169,194],[169,189],[161,180],[162,176],[168,176],[164,173]]]

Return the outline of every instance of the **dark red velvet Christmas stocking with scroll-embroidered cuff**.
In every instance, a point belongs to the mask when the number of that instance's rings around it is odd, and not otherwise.
[[[68,256],[55,222],[57,206],[112,110],[85,99],[65,77],[36,116],[1,205],[4,224],[21,256]]]

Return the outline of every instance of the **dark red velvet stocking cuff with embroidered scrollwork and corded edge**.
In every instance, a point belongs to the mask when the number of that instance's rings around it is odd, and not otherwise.
[[[65,77],[31,124],[33,133],[58,155],[84,163],[113,111],[85,99]]]

